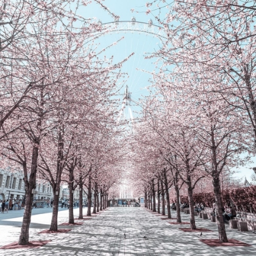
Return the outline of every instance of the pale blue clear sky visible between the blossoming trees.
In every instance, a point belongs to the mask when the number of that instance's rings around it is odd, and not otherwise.
[[[146,2],[142,0],[105,0],[103,3],[110,9],[115,15],[120,16],[119,21],[130,21],[134,16],[137,21],[148,23],[149,19],[152,18],[151,14],[146,15]],[[135,12],[131,12],[131,9],[135,9]],[[164,12],[162,12],[164,13]],[[110,23],[113,21],[112,16],[108,14],[104,9],[102,9],[99,4],[92,2],[84,9],[79,9],[78,13],[84,18],[95,18],[97,21],[100,20],[102,24]],[[152,18],[153,20],[153,18]],[[155,24],[154,20],[153,23]],[[158,25],[158,24],[155,24]],[[151,74],[141,71],[152,72],[157,71],[154,62],[157,59],[144,59],[147,53],[154,52],[161,46],[161,41],[157,37],[145,34],[143,32],[138,33],[110,33],[99,38],[96,43],[99,44],[99,49],[105,48],[106,46],[118,41],[120,38],[124,37],[120,43],[116,44],[115,47],[110,48],[108,51],[104,52],[107,57],[114,56],[114,62],[119,62],[129,56],[132,52],[135,54],[123,65],[122,71],[127,73],[127,81],[122,83],[123,86],[121,93],[124,93],[126,85],[129,86],[129,91],[131,93],[132,99],[136,102],[138,99],[146,96],[148,94],[147,87],[151,85],[149,80],[151,79]],[[120,103],[121,108],[121,103]],[[137,112],[140,108],[136,104],[130,105],[133,113],[133,117],[137,117]],[[125,110],[126,116],[130,117],[129,110]],[[251,182],[251,176],[254,174],[252,167],[256,166],[256,157],[252,159],[252,163],[248,163],[245,166],[238,166],[234,169],[236,172],[233,174],[235,179],[246,179]]]

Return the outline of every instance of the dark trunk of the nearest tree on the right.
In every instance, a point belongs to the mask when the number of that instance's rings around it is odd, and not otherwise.
[[[215,194],[215,202],[216,202],[216,219],[218,224],[219,231],[219,241],[222,243],[227,243],[227,233],[225,230],[225,225],[222,218],[222,205],[221,205],[221,189],[219,185],[219,177],[215,177],[213,180],[213,191]]]

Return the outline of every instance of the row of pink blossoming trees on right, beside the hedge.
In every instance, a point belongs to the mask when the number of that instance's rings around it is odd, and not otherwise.
[[[193,191],[199,183],[212,188],[219,240],[227,242],[221,176],[255,152],[256,7],[252,1],[161,2],[146,4],[152,9],[147,13],[168,28],[168,40],[152,54],[160,72],[152,74],[151,96],[141,101],[143,119],[136,127],[141,140],[135,150],[140,158],[151,156],[140,166],[141,182],[152,196],[154,180],[166,183],[167,204],[173,186],[178,208],[185,186],[191,229]]]

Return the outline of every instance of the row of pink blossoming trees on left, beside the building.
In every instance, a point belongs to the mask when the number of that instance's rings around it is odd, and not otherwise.
[[[26,202],[19,244],[29,242],[38,180],[51,184],[50,230],[57,231],[60,185],[68,184],[69,223],[74,223],[73,191],[79,187],[79,218],[83,190],[87,215],[92,194],[96,213],[106,207],[121,165],[116,93],[127,59],[113,63],[102,55],[104,49],[93,41],[102,27],[77,16],[79,4],[20,0],[0,6],[0,154],[2,168],[23,170]]]

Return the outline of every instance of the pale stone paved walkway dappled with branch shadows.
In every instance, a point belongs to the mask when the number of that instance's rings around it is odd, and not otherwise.
[[[38,213],[40,210],[42,209],[37,210]],[[251,247],[209,247],[200,241],[199,233],[179,230],[179,227],[189,227],[188,225],[171,225],[168,223],[169,220],[162,220],[162,216],[156,216],[144,208],[113,207],[90,220],[85,220],[81,226],[60,226],[60,229],[72,230],[69,233],[57,234],[38,234],[41,230],[49,227],[51,213],[46,212],[37,215],[36,213],[34,211],[32,216],[30,240],[51,240],[51,242],[38,249],[5,250],[0,251],[0,253],[19,256],[256,255],[256,235],[252,232],[238,232],[227,228],[228,238],[251,244]],[[77,216],[78,209],[75,209],[74,213]],[[175,216],[176,212],[173,212],[173,217]],[[188,221],[188,219],[189,216],[182,213],[182,221]],[[63,210],[60,212],[60,222],[67,220],[68,211]],[[2,226],[4,223],[5,225]],[[1,246],[18,239],[20,227],[17,226],[20,226],[20,223],[21,217],[0,221]],[[213,230],[213,232],[203,232],[202,238],[218,238],[215,223],[196,217],[196,224],[198,227]],[[3,236],[3,233],[8,234],[7,237]],[[124,238],[124,233],[126,233],[126,238]]]

